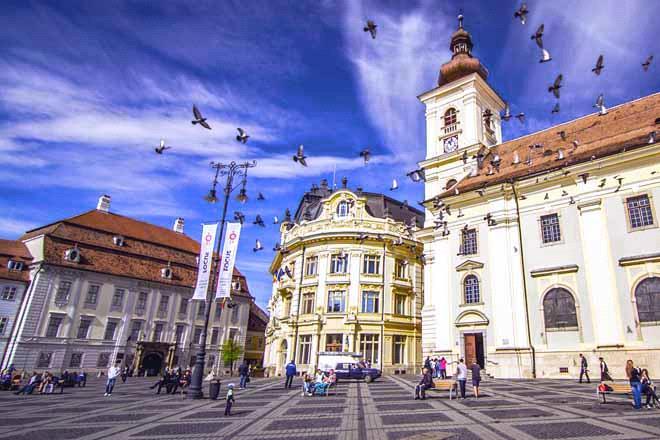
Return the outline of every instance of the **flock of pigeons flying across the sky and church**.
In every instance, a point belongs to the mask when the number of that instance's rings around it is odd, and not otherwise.
[[[527,15],[529,14],[529,12],[530,12],[530,10],[527,7],[527,3],[523,2],[521,4],[520,8],[514,12],[513,16],[514,16],[514,18],[520,20],[520,23],[522,25],[525,25],[526,22],[527,22]],[[462,15],[459,15],[459,21],[462,22],[462,18],[463,18]],[[377,36],[377,29],[378,29],[378,25],[373,20],[367,20],[367,22],[366,22],[366,24],[363,28],[363,31],[366,32],[366,33],[369,33],[371,38],[375,40],[376,36]],[[552,61],[552,56],[550,55],[550,52],[544,46],[544,43],[543,43],[544,33],[545,33],[545,27],[544,27],[543,24],[541,24],[536,29],[536,32],[534,32],[531,35],[531,39],[536,42],[536,45],[541,50],[541,59],[539,60],[540,63],[547,63],[547,62]],[[653,55],[649,55],[644,60],[644,62],[641,64],[642,69],[643,69],[644,72],[647,72],[649,70],[649,67],[651,66],[652,61],[653,61]],[[601,54],[601,55],[598,56],[598,59],[596,60],[596,64],[595,64],[594,68],[591,69],[591,71],[596,76],[600,76],[600,74],[601,74],[601,72],[603,71],[604,68],[605,68],[604,57]],[[561,96],[561,89],[563,87],[563,80],[564,80],[564,77],[560,73],[560,74],[557,75],[554,82],[548,87],[548,92],[552,93],[552,95],[557,100],[559,100],[559,98]],[[603,94],[600,94],[598,96],[598,98],[596,99],[596,103],[594,104],[594,107],[598,109],[598,114],[599,115],[607,114],[607,108],[605,107],[605,98],[604,98]],[[202,115],[201,111],[199,110],[199,108],[196,105],[193,105],[192,112],[193,112],[193,119],[192,119],[191,123],[193,125],[200,125],[201,127],[205,128],[207,130],[211,130],[211,125],[209,124],[208,119],[205,118]],[[553,106],[553,108],[551,110],[551,113],[556,114],[556,113],[559,113],[559,112],[560,112],[560,105],[559,105],[559,102],[557,102]],[[491,123],[491,121],[492,121],[492,119],[494,118],[495,115],[493,114],[493,112],[490,109],[486,109],[483,112],[482,116],[483,116],[483,119],[484,119],[484,123],[487,126],[490,126],[490,123]],[[511,120],[511,118],[518,119],[518,121],[520,121],[520,123],[525,122],[525,113],[520,112],[520,113],[517,113],[516,115],[512,115],[511,114],[511,109],[510,109],[508,103],[505,104],[504,111],[503,111],[503,113],[501,113],[499,115],[499,117],[502,121],[505,121],[505,122],[508,122],[509,120]],[[246,144],[248,142],[248,139],[250,138],[247,131],[243,128],[240,128],[240,127],[238,127],[236,130],[237,130],[236,141],[241,143],[241,144]],[[559,132],[559,135],[561,136],[561,138],[563,140],[566,140],[565,132],[563,132],[563,131]],[[649,137],[649,143],[653,143],[653,142],[655,142],[655,132],[651,133],[651,135]],[[572,143],[573,143],[573,148],[577,148],[577,146],[579,145],[579,141],[577,139],[573,140]],[[541,148],[542,145],[537,144],[537,145],[534,145],[533,147],[534,148]],[[165,145],[165,140],[161,139],[159,146],[157,146],[154,150],[155,150],[156,154],[163,154],[166,150],[169,150],[171,148],[172,147]],[[532,146],[530,146],[530,148],[532,148]],[[557,160],[562,160],[564,158],[563,150],[559,149],[556,152],[556,154],[557,154]],[[359,157],[364,161],[364,164],[366,165],[371,159],[370,149],[365,148],[362,151],[360,151]],[[478,152],[475,156],[472,156],[472,159],[477,160],[478,169],[482,168],[484,157],[485,157],[485,154],[483,152]],[[292,156],[293,162],[298,163],[303,167],[307,167],[308,166],[307,159],[308,159],[308,157],[305,155],[304,146],[303,145],[298,146],[295,154]],[[463,156],[462,156],[463,163],[467,164],[469,159],[470,159],[470,157],[468,156],[467,152],[464,151]],[[488,175],[492,175],[494,173],[494,169],[499,169],[499,162],[500,162],[500,158],[497,155],[497,153],[495,153],[493,155],[493,157],[491,158],[491,161],[490,161],[490,167],[489,167],[489,170],[488,170],[488,173],[487,173]],[[514,164],[520,163],[520,157],[518,155],[518,152],[514,152],[513,163]],[[528,156],[525,163],[527,165],[532,164],[531,155]],[[415,182],[419,182],[419,181],[424,180],[423,174],[420,177],[420,175],[416,174],[416,173],[417,173],[416,171],[413,171],[411,173],[408,173],[407,175],[409,177],[411,177],[412,180],[415,181]],[[581,175],[581,177],[585,181],[586,181],[586,176],[587,176],[586,174]],[[616,176],[615,179],[617,177],[618,176]],[[618,178],[619,186],[617,187],[616,191],[618,191],[620,189],[621,184],[622,184],[622,180],[623,180],[623,178]],[[602,187],[604,185],[605,185],[605,179],[603,179],[601,181],[600,186]],[[456,187],[456,185],[454,185],[454,187]],[[392,179],[392,184],[390,186],[390,191],[395,191],[398,188],[399,188],[399,184],[398,184],[396,178]],[[457,189],[455,190],[455,193],[458,194]],[[485,188],[478,189],[477,193],[480,196],[483,196],[485,194]],[[566,192],[564,191],[564,193],[566,193]],[[562,195],[568,196],[568,193],[562,194]],[[524,195],[520,196],[520,198],[524,199]],[[546,194],[545,195],[545,200],[548,200],[548,199],[549,199],[549,195]],[[257,200],[260,200],[260,201],[265,200],[265,197],[261,192],[258,194]],[[573,197],[571,197],[570,203],[571,204],[575,203],[575,201],[573,200]],[[442,235],[443,236],[444,235],[449,235],[448,222],[444,220],[444,213],[446,213],[447,215],[451,215],[450,206],[446,205],[442,200],[440,200],[439,197],[436,197],[436,198],[433,199],[433,206],[436,209],[440,208],[437,212],[436,218],[434,219],[435,229],[443,228]],[[288,213],[288,210],[287,210],[287,213]],[[463,216],[463,213],[461,212],[460,209],[458,210],[458,215],[457,216],[459,218]],[[241,224],[243,224],[245,222],[245,215],[243,213],[241,213],[240,211],[235,211],[234,212],[234,220],[240,222]],[[489,226],[493,226],[497,223],[495,221],[495,219],[492,218],[491,214],[487,214],[484,217],[484,220],[486,220],[488,222]],[[279,222],[280,221],[279,221],[278,217],[275,216],[273,218],[273,224],[279,224]],[[261,215],[257,215],[255,220],[252,223],[254,225],[259,226],[259,227],[266,227],[266,223],[264,222]],[[413,228],[413,225],[408,225],[407,226],[407,229],[408,229],[409,232],[412,231],[412,228]],[[464,232],[467,231],[467,228],[468,228],[468,225],[465,225],[465,228],[463,228]],[[261,241],[259,239],[257,239],[256,243],[255,243],[255,246],[253,248],[253,251],[258,252],[258,251],[261,251],[263,249],[264,249],[264,247],[263,247]],[[283,248],[278,243],[278,244],[275,245],[273,250],[274,251],[283,251]],[[287,268],[287,270],[288,270],[288,268]]]

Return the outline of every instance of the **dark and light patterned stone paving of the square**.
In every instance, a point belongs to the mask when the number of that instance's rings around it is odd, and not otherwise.
[[[660,410],[635,411],[627,398],[601,405],[595,384],[566,380],[489,379],[483,397],[449,401],[435,392],[412,400],[416,378],[341,382],[335,395],[302,397],[301,382],[254,379],[237,391],[231,417],[224,401],[155,395],[155,379],[129,378],[103,397],[104,382],[62,395],[0,392],[0,438],[57,439],[658,439]],[[226,392],[224,381],[221,396]],[[234,381],[238,383],[238,381]],[[469,388],[469,387],[468,387]]]

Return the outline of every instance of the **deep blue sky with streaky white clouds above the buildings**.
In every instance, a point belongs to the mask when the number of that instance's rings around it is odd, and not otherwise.
[[[0,12],[0,237],[75,215],[112,196],[114,212],[171,227],[219,217],[206,204],[210,160],[255,159],[243,206],[270,223],[295,210],[321,178],[389,192],[411,203],[422,187],[405,173],[424,158],[424,109],[459,8],[490,84],[528,120],[505,139],[660,88],[660,3],[528,1],[528,23],[514,1],[4,1]],[[362,32],[367,18],[378,38]],[[553,56],[538,63],[530,35],[545,24]],[[605,70],[590,71],[600,53]],[[640,67],[650,54],[655,64]],[[547,86],[564,75],[559,115]],[[190,124],[196,103],[212,131]],[[236,127],[251,135],[234,140]],[[156,156],[164,138],[172,150]],[[291,156],[299,144],[309,168]],[[365,167],[358,157],[370,147]],[[256,201],[257,191],[267,200]],[[259,238],[266,249],[254,254]],[[246,225],[238,267],[265,306],[278,229]]]

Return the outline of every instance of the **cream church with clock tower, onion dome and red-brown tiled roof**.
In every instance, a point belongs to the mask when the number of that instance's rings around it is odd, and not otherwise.
[[[419,96],[424,355],[498,377],[575,376],[579,353],[660,370],[660,94],[502,142],[514,119],[462,23],[450,48]]]

